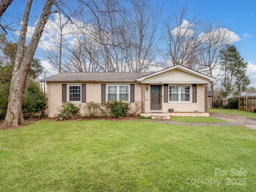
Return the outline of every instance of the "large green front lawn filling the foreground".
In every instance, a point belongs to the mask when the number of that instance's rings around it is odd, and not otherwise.
[[[242,127],[38,121],[0,130],[0,191],[256,191],[255,143],[256,132]]]

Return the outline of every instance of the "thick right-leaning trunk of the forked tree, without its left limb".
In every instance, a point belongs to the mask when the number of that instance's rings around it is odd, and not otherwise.
[[[14,70],[12,73],[8,109],[7,109],[6,118],[4,120],[3,126],[17,126],[18,124],[24,123],[22,112],[21,112],[24,86],[26,83],[26,79],[28,76],[32,59],[36,52],[36,47],[42,36],[44,26],[48,21],[48,17],[51,14],[52,5],[53,5],[52,0],[46,0],[46,3],[42,10],[42,14],[40,16],[38,24],[36,25],[34,34],[30,40],[30,44],[28,45],[28,49],[26,50],[24,58],[22,59],[22,62],[19,67],[14,66],[14,68],[17,70]],[[25,10],[25,13],[26,13],[26,10]]]

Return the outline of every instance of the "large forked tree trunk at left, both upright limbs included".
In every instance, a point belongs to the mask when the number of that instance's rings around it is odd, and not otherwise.
[[[10,85],[8,108],[3,126],[17,126],[18,124],[24,123],[21,112],[24,86],[26,83],[32,59],[36,51],[36,47],[42,36],[44,26],[51,14],[52,5],[54,3],[53,0],[46,0],[44,8],[42,10],[42,14],[36,25],[34,34],[32,35],[28,48],[26,49],[26,52],[24,54],[23,48],[25,45],[28,19],[30,15],[30,9],[32,6],[32,1],[33,0],[28,0],[23,16],[20,38],[18,41],[16,60],[14,63],[14,70],[12,73],[12,80]]]

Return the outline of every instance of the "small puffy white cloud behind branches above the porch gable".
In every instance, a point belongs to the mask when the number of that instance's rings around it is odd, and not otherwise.
[[[175,29],[171,31],[173,36],[193,36],[194,31],[191,29],[195,26],[195,24],[191,24],[187,20],[183,20],[180,26],[177,26]]]

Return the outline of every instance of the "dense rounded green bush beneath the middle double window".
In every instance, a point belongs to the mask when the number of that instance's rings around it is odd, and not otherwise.
[[[122,101],[111,101],[110,102],[110,114],[112,117],[124,117],[128,115],[130,109],[130,103]]]

